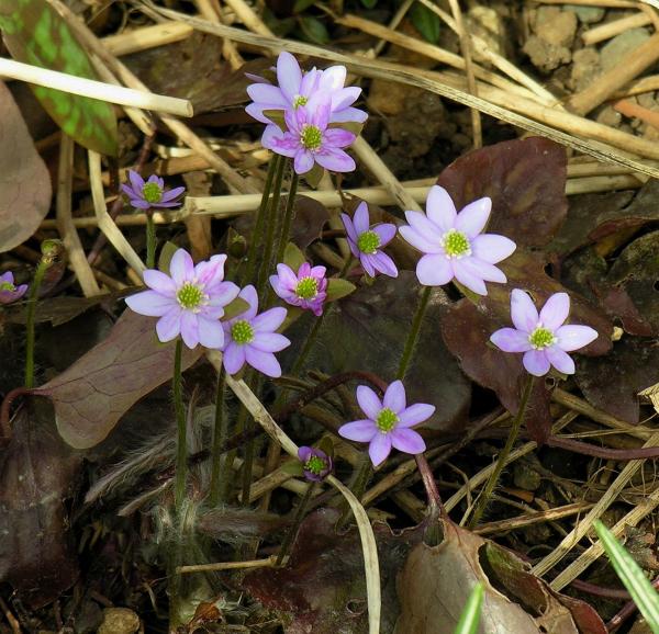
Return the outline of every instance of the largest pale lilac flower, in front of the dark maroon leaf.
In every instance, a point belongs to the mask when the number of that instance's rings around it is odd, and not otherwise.
[[[494,267],[516,248],[513,240],[483,234],[492,200],[478,199],[459,214],[448,192],[434,185],[426,201],[426,213],[405,212],[410,225],[400,233],[413,247],[425,253],[416,264],[416,276],[425,286],[448,284],[454,278],[470,291],[487,295],[485,282],[506,281]]]

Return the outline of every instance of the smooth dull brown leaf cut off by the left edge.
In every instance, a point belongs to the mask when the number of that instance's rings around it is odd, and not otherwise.
[[[11,92],[0,81],[0,252],[24,242],[51,206],[51,177]]]

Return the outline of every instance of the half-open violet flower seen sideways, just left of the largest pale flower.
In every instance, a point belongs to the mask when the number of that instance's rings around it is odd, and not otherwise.
[[[395,225],[383,223],[371,227],[368,206],[359,203],[355,216],[350,219],[347,214],[342,214],[348,246],[355,258],[359,259],[364,270],[375,278],[378,273],[384,273],[390,278],[398,278],[398,269],[393,260],[382,251],[395,236]]]

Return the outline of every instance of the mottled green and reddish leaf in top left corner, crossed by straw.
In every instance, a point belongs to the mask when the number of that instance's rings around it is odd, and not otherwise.
[[[0,29],[11,55],[19,61],[99,79],[91,61],[67,23],[42,0],[2,0]],[[34,94],[57,125],[81,146],[116,155],[116,117],[111,104],[42,86]]]

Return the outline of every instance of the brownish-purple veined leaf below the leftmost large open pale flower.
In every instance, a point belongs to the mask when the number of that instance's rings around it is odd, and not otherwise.
[[[171,378],[175,342],[158,342],[155,322],[126,310],[108,339],[34,390],[51,398],[57,429],[71,446],[101,442],[129,408]],[[201,352],[183,347],[183,369]]]

